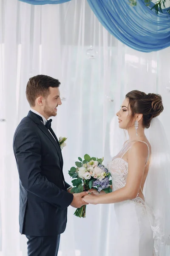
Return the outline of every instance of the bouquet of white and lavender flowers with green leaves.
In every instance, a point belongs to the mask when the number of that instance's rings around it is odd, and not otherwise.
[[[78,157],[79,162],[75,162],[77,167],[71,167],[68,174],[74,179],[72,180],[72,193],[80,193],[88,191],[88,189],[96,189],[98,192],[104,190],[105,193],[111,192],[112,184],[110,180],[111,174],[108,169],[102,164],[104,158],[90,157],[85,154],[84,160]],[[74,215],[85,218],[86,205],[78,208]]]

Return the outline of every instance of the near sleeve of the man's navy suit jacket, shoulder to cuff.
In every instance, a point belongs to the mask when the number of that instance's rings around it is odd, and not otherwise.
[[[30,128],[19,131],[14,140],[14,152],[23,187],[44,201],[61,209],[73,201],[73,195],[50,182],[41,172],[40,139]]]

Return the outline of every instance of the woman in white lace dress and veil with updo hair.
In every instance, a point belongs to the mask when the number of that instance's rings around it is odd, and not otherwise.
[[[108,163],[112,192],[105,194],[102,191],[98,194],[95,189],[90,189],[91,194],[83,198],[89,204],[114,203],[118,222],[114,256],[170,255],[165,254],[165,244],[170,239],[170,221],[166,223],[167,218],[170,218],[166,180],[170,165],[162,151],[165,144],[162,147],[160,144],[166,140],[163,140],[161,128],[157,130],[158,134],[153,132],[158,129],[159,121],[153,125],[156,129],[151,132],[153,142],[160,138],[158,144],[153,143],[152,147],[144,133],[144,129],[152,126],[163,109],[158,94],[146,94],[138,90],[127,93],[116,115],[119,128],[127,130],[129,140]],[[161,149],[159,154],[158,148]]]

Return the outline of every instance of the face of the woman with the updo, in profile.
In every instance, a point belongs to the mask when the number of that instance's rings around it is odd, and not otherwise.
[[[119,128],[127,129],[129,126],[133,125],[133,120],[131,121],[131,110],[128,98],[124,99],[120,110],[116,113],[116,116],[118,116]]]

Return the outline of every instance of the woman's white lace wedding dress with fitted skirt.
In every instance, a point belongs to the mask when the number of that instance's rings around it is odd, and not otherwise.
[[[145,144],[147,145],[147,143]],[[108,169],[112,176],[113,191],[124,187],[126,184],[128,163],[122,157],[127,153],[131,145],[127,142],[119,154],[108,163]],[[149,159],[149,146],[147,145],[147,147]],[[153,256],[153,231],[144,200],[138,194],[133,200],[115,203],[114,209],[118,222],[118,233],[116,233],[113,255]]]

